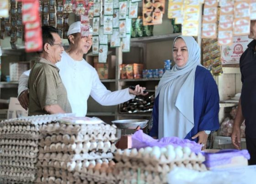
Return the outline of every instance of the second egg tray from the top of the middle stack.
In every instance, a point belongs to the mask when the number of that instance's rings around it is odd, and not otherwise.
[[[117,140],[117,137],[114,134],[91,134],[91,135],[68,135],[68,134],[59,134],[59,135],[52,135],[46,136],[42,138],[39,142],[39,146],[44,147],[50,146],[52,143],[64,143],[66,145],[74,144],[74,143],[88,143],[88,142],[111,142],[114,143]]]

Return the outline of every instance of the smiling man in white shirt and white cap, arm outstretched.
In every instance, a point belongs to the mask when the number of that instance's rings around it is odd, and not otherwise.
[[[90,35],[81,37],[81,22],[74,22],[68,31],[69,48],[63,51],[59,67],[59,75],[67,89],[68,99],[72,112],[76,116],[84,117],[87,113],[87,100],[91,95],[101,105],[111,106],[126,102],[135,95],[147,95],[145,87],[137,85],[134,90],[130,88],[111,92],[101,83],[99,76],[89,63],[85,61],[84,54],[92,46],[92,29]],[[18,100],[21,106],[27,109],[28,90],[27,77],[29,71],[24,72],[19,80]]]

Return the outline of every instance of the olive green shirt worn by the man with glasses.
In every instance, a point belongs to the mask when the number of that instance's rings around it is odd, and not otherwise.
[[[35,61],[28,78],[28,115],[48,114],[43,108],[49,105],[59,105],[65,112],[72,112],[59,68],[42,57]]]

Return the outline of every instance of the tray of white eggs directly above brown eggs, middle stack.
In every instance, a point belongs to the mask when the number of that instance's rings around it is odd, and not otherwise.
[[[83,154],[67,154],[67,153],[39,153],[38,159],[40,161],[66,161],[72,162],[76,160],[95,160],[102,158],[113,158],[113,153],[83,153]]]

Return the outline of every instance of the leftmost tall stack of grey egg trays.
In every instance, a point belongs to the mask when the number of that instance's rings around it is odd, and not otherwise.
[[[15,118],[0,123],[0,183],[30,183],[36,178],[38,140],[43,124],[62,115]]]

